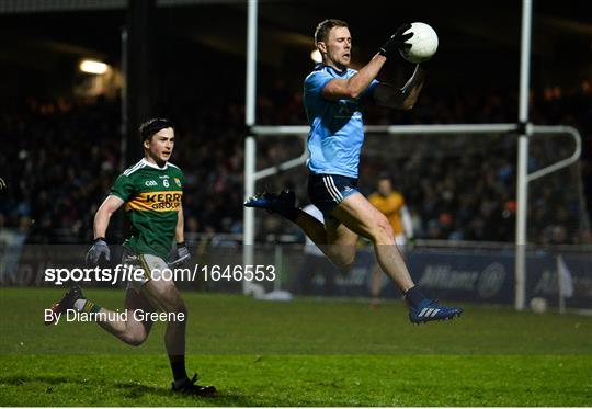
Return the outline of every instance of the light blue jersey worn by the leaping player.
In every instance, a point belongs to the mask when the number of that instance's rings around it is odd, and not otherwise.
[[[308,169],[312,173],[340,174],[357,178],[360,150],[364,143],[362,112],[372,98],[378,81],[355,100],[326,100],[322,89],[335,78],[348,79],[357,71],[338,71],[319,64],[305,79],[304,105],[310,133],[308,134]]]

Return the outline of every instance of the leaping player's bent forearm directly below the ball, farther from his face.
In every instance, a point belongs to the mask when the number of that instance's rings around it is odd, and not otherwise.
[[[374,90],[374,100],[377,104],[397,110],[411,110],[418,101],[421,88],[425,80],[425,70],[420,65],[403,88],[396,88],[380,83]]]

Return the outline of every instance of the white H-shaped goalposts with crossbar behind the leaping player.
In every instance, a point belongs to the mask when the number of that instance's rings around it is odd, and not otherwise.
[[[528,183],[535,179],[566,168],[580,158],[581,137],[571,126],[538,126],[528,122],[528,84],[530,84],[530,54],[531,54],[531,20],[532,0],[523,0],[522,8],[522,39],[520,66],[520,95],[519,122],[515,124],[452,124],[452,125],[395,125],[395,126],[366,126],[366,136],[373,134],[389,135],[445,135],[473,134],[483,135],[491,133],[519,134],[519,155],[516,166],[516,225],[515,225],[515,296],[514,308],[523,310],[526,294],[526,216]],[[258,0],[249,0],[248,9],[248,37],[247,37],[247,90],[246,90],[246,125],[249,135],[244,140],[244,196],[253,195],[255,182],[260,179],[275,174],[303,164],[307,159],[306,147],[303,154],[295,159],[280,166],[257,171],[257,140],[255,137],[286,136],[308,134],[308,126],[257,126],[255,125],[255,89],[257,89],[257,33],[258,33]],[[527,173],[528,141],[533,135],[568,134],[574,140],[573,154],[566,159],[557,161],[536,172]],[[304,141],[304,138],[303,138]],[[243,265],[253,264],[254,245],[254,209],[243,208]],[[243,282],[244,294],[258,294],[262,288],[252,282]]]

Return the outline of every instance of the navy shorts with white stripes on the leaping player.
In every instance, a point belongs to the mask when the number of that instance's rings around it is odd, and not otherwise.
[[[325,173],[308,175],[308,197],[325,217],[330,216],[338,204],[354,193],[358,193],[355,178]]]

